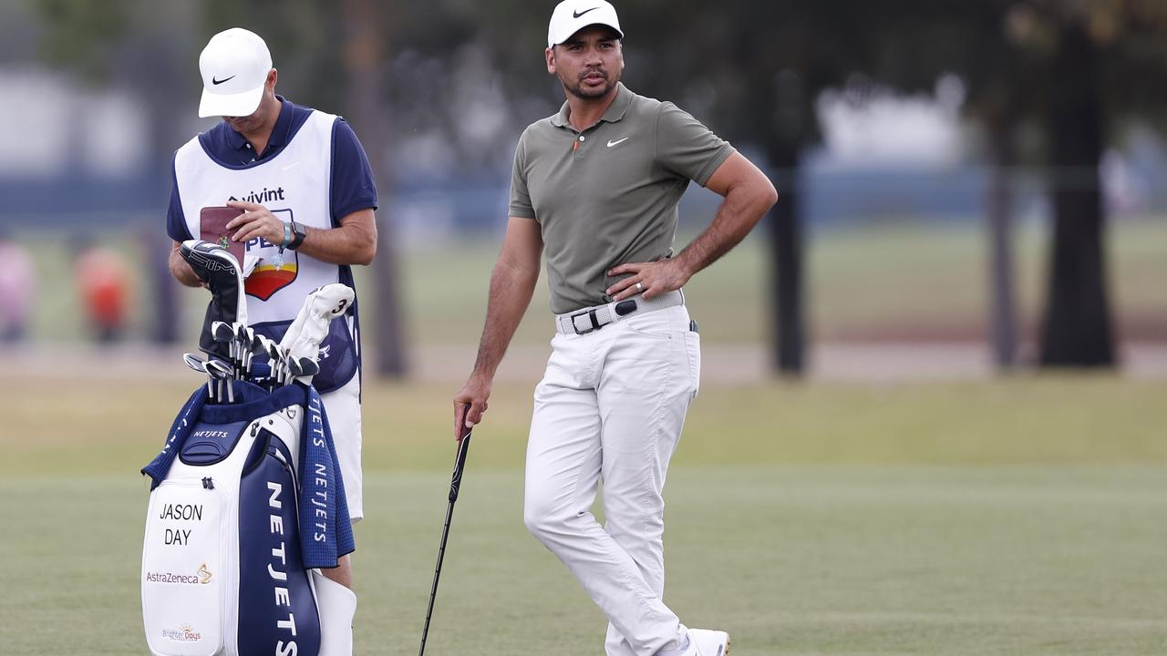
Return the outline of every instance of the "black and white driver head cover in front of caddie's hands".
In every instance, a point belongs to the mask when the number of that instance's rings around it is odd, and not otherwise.
[[[207,284],[211,300],[207,305],[203,329],[198,335],[198,348],[203,353],[217,355],[224,360],[230,357],[229,344],[215,341],[211,324],[247,323],[247,298],[243,288],[243,270],[235,256],[223,246],[188,239],[179,246],[179,254],[190,265],[195,275]]]

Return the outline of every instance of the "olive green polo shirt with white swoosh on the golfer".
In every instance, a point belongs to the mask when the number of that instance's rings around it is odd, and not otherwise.
[[[620,84],[595,125],[576,132],[568,105],[531,124],[515,149],[510,216],[539,223],[551,310],[612,301],[619,264],[672,256],[677,203],[735,151],[672,103]]]

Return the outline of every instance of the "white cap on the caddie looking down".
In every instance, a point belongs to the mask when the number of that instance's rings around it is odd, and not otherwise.
[[[200,117],[245,117],[259,109],[272,54],[258,34],[239,27],[211,37],[198,55],[203,74]]]

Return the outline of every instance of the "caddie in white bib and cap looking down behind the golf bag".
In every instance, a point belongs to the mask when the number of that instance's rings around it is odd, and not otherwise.
[[[246,279],[252,327],[279,341],[316,287],[355,288],[351,265],[372,261],[377,247],[377,188],[364,149],[343,119],[275,95],[278,72],[257,34],[232,28],[211,37],[198,57],[200,117],[223,117],[174,155],[167,231],[170,272],[184,285],[201,280],[179,254],[198,238],[202,208],[242,210],[226,228],[256,260]],[[247,261],[240,263],[246,266]],[[333,321],[321,344],[321,392],[354,522],[364,515],[361,490],[361,342],[356,305]],[[356,595],[348,557],[319,586],[321,654],[352,652]],[[333,638],[341,642],[333,643]]]

